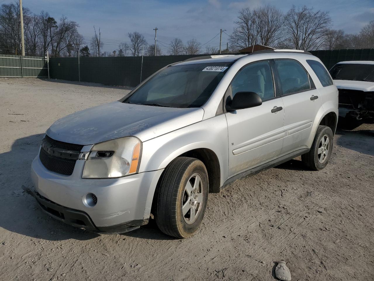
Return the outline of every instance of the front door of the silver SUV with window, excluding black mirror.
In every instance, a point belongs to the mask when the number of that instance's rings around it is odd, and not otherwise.
[[[226,112],[229,131],[229,177],[276,158],[284,137],[284,105],[275,97],[269,61],[244,66],[233,79],[226,97],[255,92],[263,100],[253,108]]]

